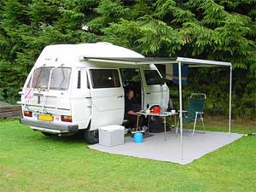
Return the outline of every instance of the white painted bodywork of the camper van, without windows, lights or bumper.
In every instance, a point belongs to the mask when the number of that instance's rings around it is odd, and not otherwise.
[[[69,87],[67,90],[33,90],[32,100],[26,101],[21,96],[22,111],[31,110],[32,118],[24,116],[24,119],[38,120],[38,114],[49,113],[54,116],[52,123],[60,125],[78,125],[79,129],[96,130],[102,125],[121,125],[124,119],[125,94],[120,79],[119,88],[93,89],[90,79],[90,68],[139,68],[143,84],[143,108],[147,105],[160,105],[167,108],[169,101],[169,89],[166,84],[147,85],[143,70],[157,70],[154,64],[132,66],[127,64],[111,64],[95,61],[83,61],[83,57],[136,57],[143,58],[131,49],[125,49],[109,43],[96,44],[55,44],[45,47],[39,55],[34,67],[29,73],[23,89],[29,87],[32,73],[39,67],[70,67],[72,69]],[[78,73],[80,71],[80,88],[78,89]],[[119,74],[120,78],[120,74]],[[150,92],[150,94],[146,94]],[[40,95],[41,96],[38,96]],[[44,97],[45,96],[45,97]],[[38,97],[39,102],[38,102]],[[42,106],[44,105],[44,111]],[[61,115],[72,116],[72,123],[61,122]],[[44,123],[44,122],[41,122]],[[32,126],[34,130],[47,130],[47,128]],[[65,132],[51,129],[51,132]]]

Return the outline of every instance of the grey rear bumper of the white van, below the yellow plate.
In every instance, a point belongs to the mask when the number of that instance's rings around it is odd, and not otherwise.
[[[30,125],[32,127],[38,127],[38,130],[46,129],[53,132],[76,132],[79,131],[79,125],[68,125],[68,124],[58,124],[47,121],[39,121],[32,119],[20,119],[20,124]]]

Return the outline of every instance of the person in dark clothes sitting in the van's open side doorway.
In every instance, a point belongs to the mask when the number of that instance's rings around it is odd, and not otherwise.
[[[137,105],[134,102],[134,91],[129,89],[125,92],[125,119],[128,119],[132,128],[137,127],[137,109],[134,106]],[[145,117],[140,117],[139,127],[142,127],[145,122]]]

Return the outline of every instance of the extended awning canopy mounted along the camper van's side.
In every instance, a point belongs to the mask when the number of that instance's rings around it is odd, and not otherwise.
[[[186,57],[83,57],[84,61],[96,61],[107,63],[121,63],[128,65],[147,65],[147,64],[176,64],[181,62],[189,67],[230,67],[230,62],[210,61],[201,59],[192,59]]]

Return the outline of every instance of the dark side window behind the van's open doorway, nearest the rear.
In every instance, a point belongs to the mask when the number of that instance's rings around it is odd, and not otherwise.
[[[119,72],[116,69],[90,69],[90,78],[94,89],[120,87]]]

